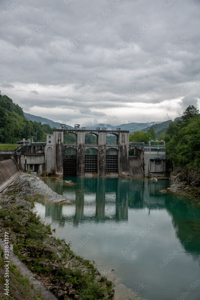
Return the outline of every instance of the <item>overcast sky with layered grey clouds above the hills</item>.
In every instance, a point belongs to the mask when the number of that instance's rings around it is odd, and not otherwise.
[[[199,12],[199,0],[1,0],[1,93],[82,126],[200,109]]]

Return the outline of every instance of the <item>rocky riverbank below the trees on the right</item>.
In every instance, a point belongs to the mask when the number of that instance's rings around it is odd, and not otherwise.
[[[196,170],[182,170],[174,167],[170,175],[173,184],[168,190],[187,196],[200,197],[200,172]]]

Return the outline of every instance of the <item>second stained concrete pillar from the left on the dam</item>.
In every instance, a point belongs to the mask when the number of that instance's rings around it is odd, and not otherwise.
[[[77,131],[77,176],[85,176],[85,132]]]

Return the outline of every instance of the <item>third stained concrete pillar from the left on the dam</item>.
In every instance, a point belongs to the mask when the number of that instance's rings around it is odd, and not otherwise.
[[[98,163],[100,177],[106,177],[106,131],[99,132]]]

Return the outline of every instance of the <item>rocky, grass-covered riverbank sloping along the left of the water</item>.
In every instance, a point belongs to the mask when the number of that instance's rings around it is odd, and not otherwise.
[[[59,300],[112,298],[113,282],[101,276],[94,262],[70,250],[69,243],[52,236],[50,225],[42,224],[32,211],[38,194],[51,201],[69,202],[36,173],[23,173],[0,194],[1,238],[9,232],[15,255]]]

